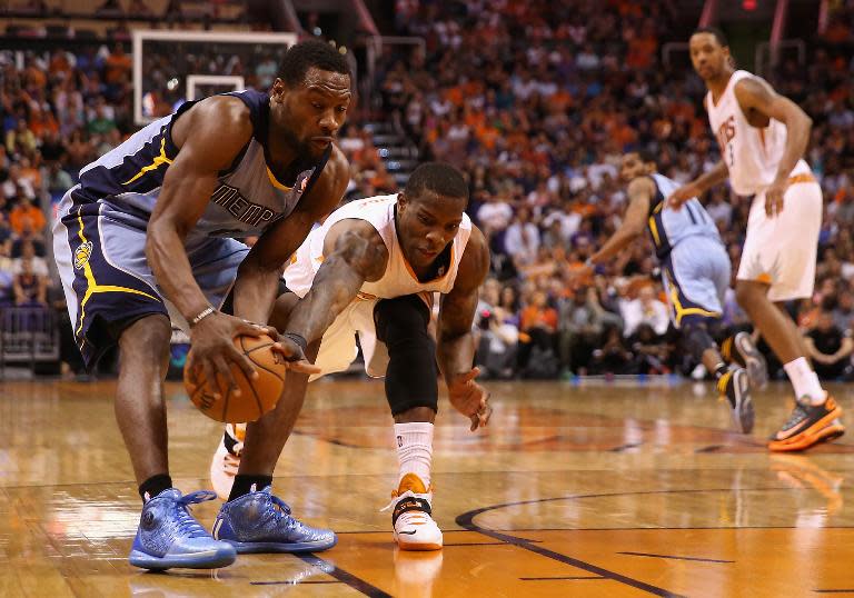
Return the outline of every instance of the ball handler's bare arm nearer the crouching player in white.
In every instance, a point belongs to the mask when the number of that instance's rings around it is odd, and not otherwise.
[[[261,235],[240,263],[235,282],[236,316],[254,322],[268,321],[285,266],[314,223],[338,206],[348,181],[347,158],[332,146],[332,153],[315,186],[287,218]]]

